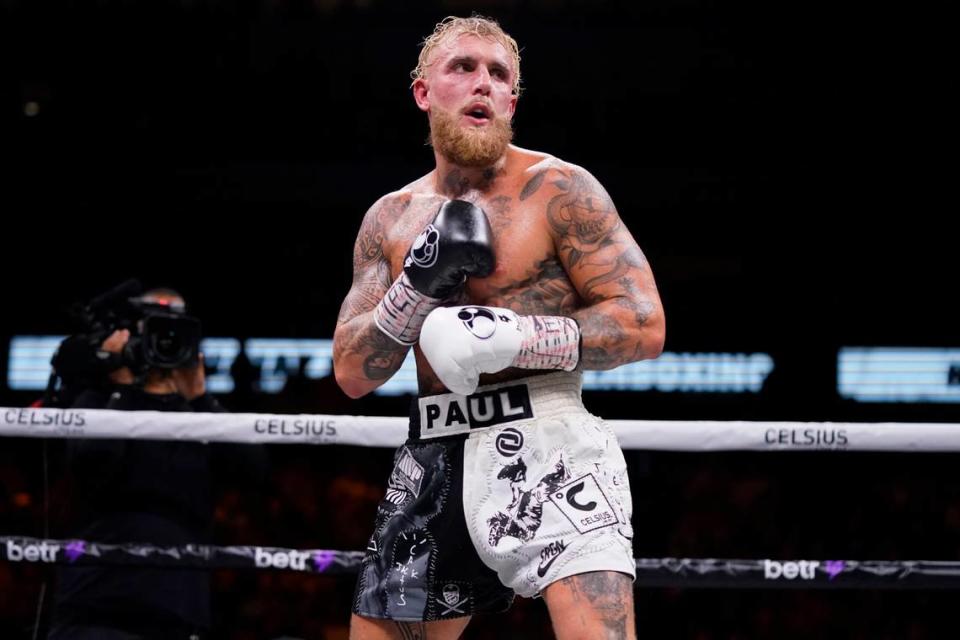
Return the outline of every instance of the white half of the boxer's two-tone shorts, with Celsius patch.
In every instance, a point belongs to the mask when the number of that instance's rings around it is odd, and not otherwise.
[[[521,596],[588,571],[636,577],[623,452],[583,407],[580,382],[566,372],[524,379],[534,417],[471,430],[464,445],[467,530],[484,564]]]

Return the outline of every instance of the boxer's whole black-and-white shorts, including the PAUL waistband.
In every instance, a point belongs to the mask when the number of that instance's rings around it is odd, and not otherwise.
[[[443,620],[590,571],[636,577],[620,445],[558,372],[417,399],[354,613]]]

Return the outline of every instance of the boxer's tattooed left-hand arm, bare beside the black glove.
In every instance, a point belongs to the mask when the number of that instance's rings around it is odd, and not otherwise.
[[[370,393],[396,373],[410,349],[389,338],[373,321],[373,310],[390,288],[385,229],[409,206],[410,196],[386,196],[363,219],[353,250],[353,284],[340,307],[333,335],[337,383],[351,398]]]

